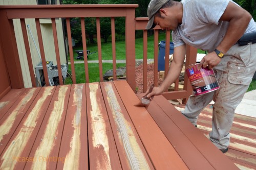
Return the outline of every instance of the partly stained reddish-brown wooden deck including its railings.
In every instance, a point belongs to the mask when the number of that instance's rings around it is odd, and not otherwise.
[[[142,95],[134,93],[136,30],[143,31],[144,92],[148,82],[146,60],[150,35],[145,30],[148,18],[135,17],[137,7],[136,4],[0,6],[0,20],[5,26],[0,27],[0,169],[256,169],[255,119],[241,116],[235,121],[230,149],[224,155],[207,139],[210,108],[206,108],[209,113],[200,115],[195,128],[167,101],[182,99],[182,104],[186,103],[192,91],[186,76],[183,89],[179,89],[176,80],[175,91],[156,96],[147,108],[134,106]],[[76,84],[77,71],[70,45],[73,84],[63,85],[60,81],[60,86],[50,86],[51,80],[46,79],[48,87],[37,87],[34,67],[39,60],[35,61],[32,53],[35,49],[31,51],[34,47],[29,43],[28,20],[34,26],[47,78],[48,41],[44,41],[40,20],[50,18],[47,25],[51,25],[49,31],[53,37],[49,41],[54,42],[53,61],[62,80],[62,43],[58,42],[56,23],[66,20],[65,38],[72,44],[74,17],[80,18],[84,52],[88,35],[84,20],[96,19],[100,83],[89,83],[91,70],[84,57],[85,84]],[[116,70],[116,56],[120,55],[116,53],[115,21],[118,17],[125,18],[126,81],[116,81],[113,71],[115,81],[103,82],[101,17],[111,19],[113,70]],[[21,31],[18,38],[15,29]],[[160,27],[154,29],[154,84],[158,83],[159,30]],[[170,30],[166,31],[165,42],[170,42]],[[19,47],[23,48],[22,54]],[[194,64],[197,49],[188,45],[186,54],[186,65]],[[165,56],[168,55],[166,45]],[[167,74],[168,57],[164,64]],[[25,86],[27,82],[31,85]]]

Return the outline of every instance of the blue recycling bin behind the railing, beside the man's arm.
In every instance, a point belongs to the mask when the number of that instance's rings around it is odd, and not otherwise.
[[[164,56],[165,56],[165,41],[160,41],[158,44],[158,71],[164,70]],[[174,54],[174,43],[170,42],[169,54]],[[169,58],[169,56],[167,56]]]

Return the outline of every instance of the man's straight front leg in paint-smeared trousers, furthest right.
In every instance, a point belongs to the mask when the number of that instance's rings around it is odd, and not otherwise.
[[[223,78],[219,82],[222,88],[218,89],[214,95],[215,104],[212,113],[212,131],[210,132],[210,140],[221,150],[228,148],[234,111],[249,86],[229,83],[227,74],[224,74]]]

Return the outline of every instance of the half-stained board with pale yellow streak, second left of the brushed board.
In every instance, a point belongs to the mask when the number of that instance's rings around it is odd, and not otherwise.
[[[86,84],[86,89],[90,169],[121,169],[100,85]]]

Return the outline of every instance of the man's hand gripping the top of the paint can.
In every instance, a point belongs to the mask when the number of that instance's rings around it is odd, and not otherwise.
[[[198,70],[200,70],[201,67],[205,68],[207,66],[209,69],[212,69],[216,65],[218,65],[220,62],[221,62],[221,58],[215,52],[211,52],[202,58],[202,60],[200,61],[202,65],[199,64]]]

